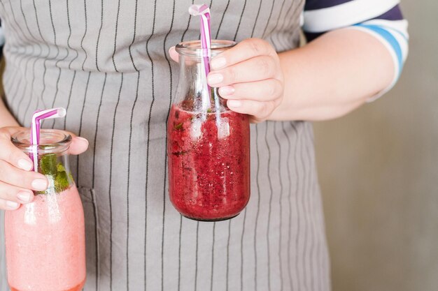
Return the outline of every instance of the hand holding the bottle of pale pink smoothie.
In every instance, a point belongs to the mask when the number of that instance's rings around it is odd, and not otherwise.
[[[32,191],[45,191],[48,187],[47,178],[32,171],[34,164],[29,156],[10,141],[10,137],[21,130],[25,128],[0,128],[0,209],[15,210],[20,204],[34,199]],[[87,150],[85,138],[71,135],[69,154],[81,154]]]

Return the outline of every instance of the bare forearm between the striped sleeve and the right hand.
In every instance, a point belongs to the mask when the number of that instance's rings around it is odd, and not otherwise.
[[[284,97],[271,120],[318,121],[341,117],[386,89],[393,59],[368,33],[339,29],[279,54]]]

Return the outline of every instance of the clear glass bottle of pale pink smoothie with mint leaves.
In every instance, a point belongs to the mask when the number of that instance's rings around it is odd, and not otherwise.
[[[6,211],[6,263],[13,291],[76,291],[85,283],[83,205],[71,177],[71,136],[62,130],[41,130],[31,145],[30,130],[12,137],[16,147],[38,151],[38,172],[49,181],[33,202]]]

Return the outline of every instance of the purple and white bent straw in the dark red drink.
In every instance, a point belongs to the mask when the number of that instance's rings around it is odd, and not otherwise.
[[[204,66],[204,90],[202,92],[203,110],[210,107],[211,90],[207,83],[207,75],[210,73],[210,47],[211,47],[211,31],[210,31],[210,8],[203,5],[192,5],[189,7],[189,13],[193,16],[201,17],[201,48],[202,48],[202,65]],[[206,92],[207,91],[207,92]]]

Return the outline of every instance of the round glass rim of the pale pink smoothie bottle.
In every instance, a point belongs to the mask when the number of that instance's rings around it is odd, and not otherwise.
[[[71,135],[64,130],[41,129],[40,144],[34,145],[30,142],[30,129],[21,130],[10,137],[15,147],[25,153],[31,153],[36,148],[38,154],[62,153],[69,149],[71,144]]]

